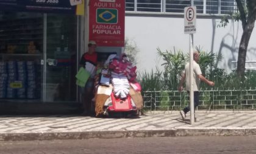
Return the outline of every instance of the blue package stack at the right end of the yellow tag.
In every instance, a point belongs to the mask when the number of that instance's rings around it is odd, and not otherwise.
[[[21,83],[21,87],[17,89],[17,98],[25,99],[26,96],[26,81],[27,81],[27,70],[25,61],[17,61],[18,68],[18,82]]]

